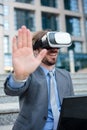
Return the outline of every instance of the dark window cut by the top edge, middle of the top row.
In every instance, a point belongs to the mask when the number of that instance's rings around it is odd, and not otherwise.
[[[41,5],[49,7],[58,7],[58,0],[41,0]]]

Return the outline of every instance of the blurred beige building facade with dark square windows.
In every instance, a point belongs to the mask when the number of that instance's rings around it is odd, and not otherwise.
[[[69,32],[74,52],[87,53],[87,0],[0,1],[0,73],[12,67],[12,38],[22,25],[32,32]]]

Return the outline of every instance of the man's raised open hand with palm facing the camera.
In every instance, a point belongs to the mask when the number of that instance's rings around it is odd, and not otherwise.
[[[18,37],[13,38],[12,44],[12,63],[15,78],[23,80],[34,72],[46,55],[46,52],[46,49],[43,49],[37,57],[34,56],[31,32],[25,26],[22,26],[18,30]]]

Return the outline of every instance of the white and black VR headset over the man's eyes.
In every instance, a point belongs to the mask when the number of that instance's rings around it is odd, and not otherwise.
[[[62,48],[71,46],[71,36],[66,32],[47,32],[39,41],[33,46],[33,49],[38,48]]]

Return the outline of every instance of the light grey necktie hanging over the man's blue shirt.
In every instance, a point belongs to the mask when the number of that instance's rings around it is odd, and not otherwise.
[[[54,128],[53,130],[57,129],[57,124],[58,124],[58,119],[59,119],[59,111],[58,111],[58,106],[56,102],[56,95],[55,95],[55,77],[53,75],[53,72],[49,72],[50,75],[50,103],[51,103],[51,108],[52,108],[52,113],[54,117]]]

